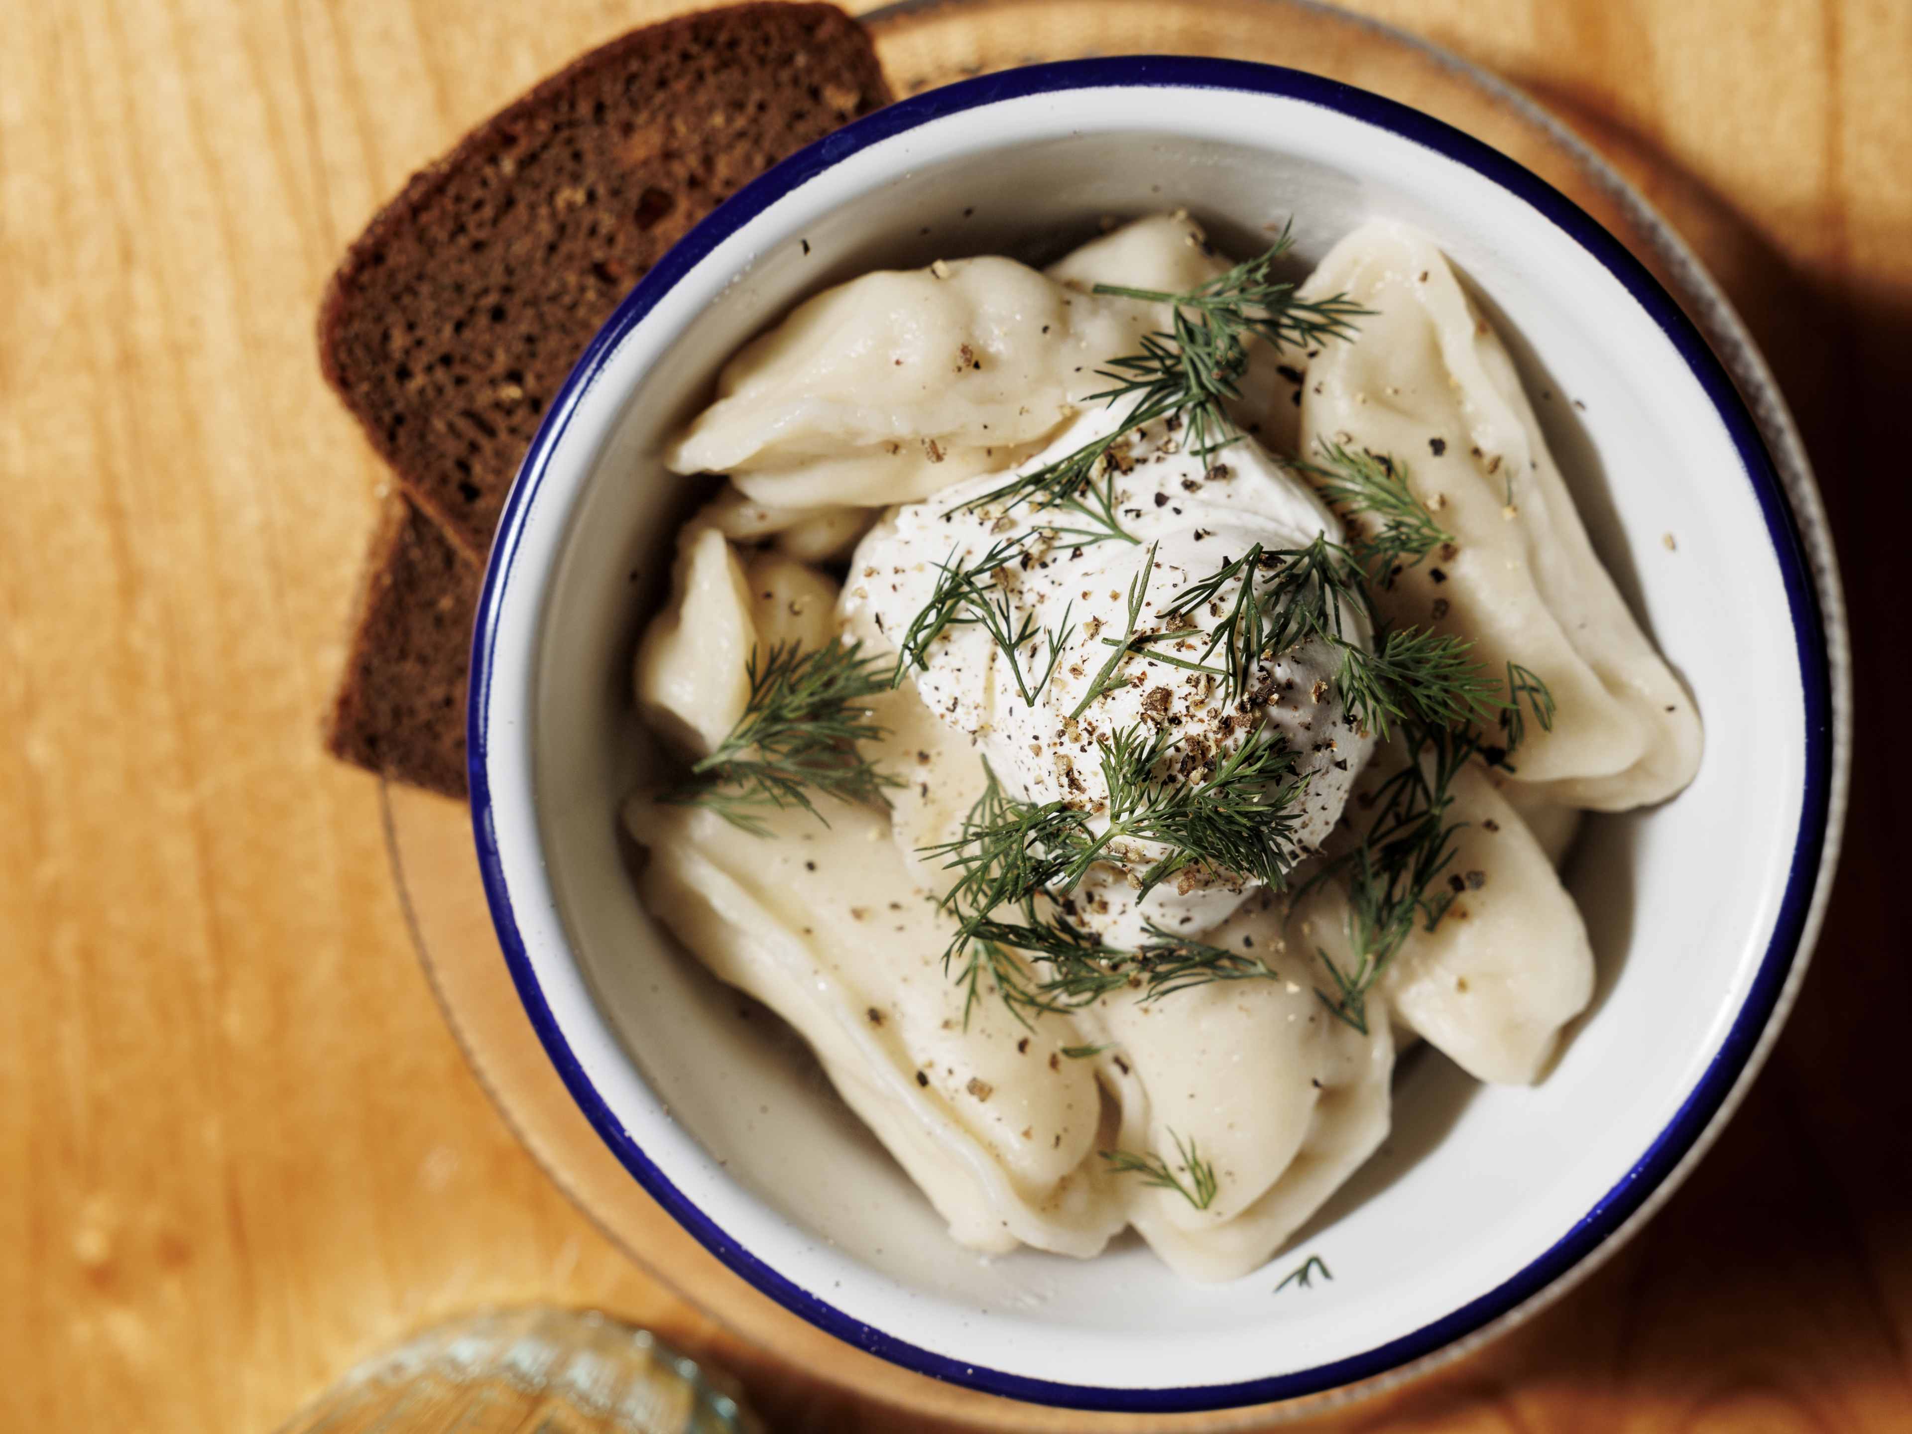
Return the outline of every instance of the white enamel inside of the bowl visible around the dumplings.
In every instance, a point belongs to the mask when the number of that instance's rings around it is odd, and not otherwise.
[[[698,497],[665,476],[660,449],[721,361],[801,296],[876,264],[1040,262],[1103,212],[1164,203],[1237,249],[1293,212],[1308,260],[1371,214],[1426,228],[1530,388],[1577,400],[1541,409],[1549,445],[1709,719],[1694,786],[1658,811],[1589,820],[1568,864],[1600,969],[1547,1080],[1476,1088],[1436,1055],[1407,1059],[1380,1155],[1293,1260],[1222,1287],[1178,1281],[1138,1245],[1080,1264],[954,1247],[774,1023],[740,1019],[738,998],[660,939],[616,843],[642,771],[635,633]],[[962,1365],[1103,1388],[1254,1380],[1359,1356],[1488,1294],[1595,1210],[1679,1111],[1765,954],[1792,860],[1805,753],[1792,616],[1698,382],[1625,289],[1522,201],[1293,99],[1076,90],[851,155],[625,335],[497,560],[511,579],[484,694],[493,837],[583,1076],[734,1245],[845,1317]],[[1306,1252],[1335,1281],[1271,1298]]]

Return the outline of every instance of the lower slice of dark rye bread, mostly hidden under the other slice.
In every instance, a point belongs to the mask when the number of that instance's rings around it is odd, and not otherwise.
[[[478,564],[409,499],[379,518],[352,619],[352,656],[325,723],[335,757],[467,795],[465,681]]]

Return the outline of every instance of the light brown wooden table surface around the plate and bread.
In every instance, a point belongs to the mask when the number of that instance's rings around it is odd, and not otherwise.
[[[15,0],[0,21],[0,1428],[268,1430],[478,1304],[589,1302],[778,1430],[927,1430],[700,1317],[488,1103],[375,782],[317,713],[382,484],[314,363],[405,174],[671,0]],[[1858,656],[1818,960],[1669,1208],[1336,1428],[1912,1428],[1912,941],[1889,914],[1912,524],[1912,4],[1361,0],[1602,147],[1805,428]]]

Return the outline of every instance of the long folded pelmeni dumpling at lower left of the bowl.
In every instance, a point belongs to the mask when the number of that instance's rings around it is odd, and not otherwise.
[[[1126,1222],[1065,1017],[1023,1027],[943,969],[954,931],[881,813],[767,811],[767,839],[702,807],[633,803],[644,904],[719,979],[790,1021],[964,1245],[1096,1254]]]

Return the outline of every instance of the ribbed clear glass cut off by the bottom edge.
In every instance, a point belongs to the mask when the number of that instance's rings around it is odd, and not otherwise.
[[[491,1310],[352,1369],[279,1434],[761,1434],[727,1380],[595,1310]]]

